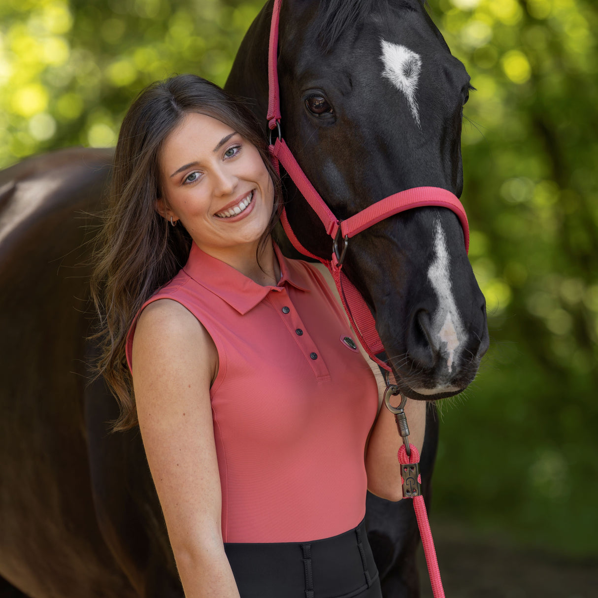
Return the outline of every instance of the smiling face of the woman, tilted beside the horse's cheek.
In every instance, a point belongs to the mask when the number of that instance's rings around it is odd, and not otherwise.
[[[270,221],[274,187],[257,148],[215,118],[187,114],[164,142],[164,198],[157,209],[181,220],[214,257],[254,249]]]

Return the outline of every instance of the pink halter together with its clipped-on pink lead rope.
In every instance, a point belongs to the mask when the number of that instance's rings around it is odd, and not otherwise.
[[[270,154],[272,161],[277,168],[279,163],[282,164],[298,190],[307,200],[307,203],[309,203],[311,208],[318,215],[318,218],[324,225],[326,233],[331,237],[333,241],[331,259],[325,260],[308,251],[301,245],[289,224],[285,209],[283,209],[280,219],[286,236],[288,236],[294,248],[303,255],[315,258],[328,268],[334,278],[338,294],[343,302],[344,310],[346,311],[347,316],[349,316],[349,320],[355,330],[355,334],[359,338],[359,342],[362,344],[370,358],[390,373],[390,371],[392,371],[390,366],[376,357],[376,353],[382,352],[384,347],[378,332],[376,331],[374,317],[361,293],[355,288],[353,283],[347,279],[342,270],[343,259],[349,239],[356,234],[361,233],[361,231],[371,225],[396,213],[403,212],[404,210],[420,208],[422,206],[441,206],[443,208],[449,208],[459,217],[459,221],[463,228],[465,248],[469,249],[469,225],[465,209],[463,209],[459,198],[446,189],[439,187],[416,187],[385,197],[385,199],[373,203],[371,206],[368,206],[368,208],[365,208],[344,221],[340,221],[334,216],[322,197],[320,197],[318,191],[316,191],[310,183],[280,134],[281,115],[277,71],[280,3],[281,0],[274,0],[270,25],[268,57],[269,101],[267,120],[270,130],[277,129],[278,131],[278,138],[274,141],[274,144],[270,145]],[[342,247],[340,247],[340,245],[342,245]],[[405,398],[402,398],[401,407],[399,408],[390,407],[389,403],[390,395],[395,395],[398,392],[399,389],[397,386],[388,383],[388,388],[385,392],[385,402],[386,407],[395,414],[397,428],[404,442],[404,446],[401,446],[401,449],[399,449],[398,452],[398,459],[401,465],[403,496],[404,498],[413,499],[413,507],[416,513],[417,525],[419,526],[420,534],[422,536],[422,545],[426,555],[426,562],[428,563],[428,572],[434,598],[444,598],[444,590],[440,580],[440,571],[438,570],[434,541],[432,541],[428,514],[426,513],[426,506],[420,489],[421,477],[419,475],[419,453],[416,447],[408,443],[407,440],[409,429],[402,410]]]

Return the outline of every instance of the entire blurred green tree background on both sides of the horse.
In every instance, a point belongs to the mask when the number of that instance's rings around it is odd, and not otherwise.
[[[3,0],[0,167],[109,147],[151,81],[224,84],[262,0]],[[492,346],[440,407],[434,517],[598,554],[598,8],[430,0],[477,91],[463,123],[470,258]],[[594,397],[594,398],[592,398]]]

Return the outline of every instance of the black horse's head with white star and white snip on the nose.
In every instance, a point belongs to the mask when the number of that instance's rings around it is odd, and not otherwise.
[[[460,196],[469,76],[418,0],[285,0],[278,70],[283,135],[338,218],[413,187]],[[286,191],[298,239],[329,259],[315,213]],[[373,225],[350,240],[344,268],[408,396],[450,396],[472,381],[489,343],[486,308],[453,212],[417,208]]]

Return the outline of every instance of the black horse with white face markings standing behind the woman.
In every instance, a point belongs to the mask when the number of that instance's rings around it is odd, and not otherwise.
[[[227,82],[261,118],[270,14],[271,2]],[[410,187],[460,195],[469,78],[418,0],[285,0],[279,54],[286,141],[338,217]],[[101,208],[110,163],[110,151],[73,149],[0,175],[0,597],[182,597],[139,433],[109,434],[117,405],[102,380],[87,384],[97,220],[85,214]],[[301,243],[328,256],[286,180],[285,193]],[[409,396],[471,382],[488,344],[484,299],[450,210],[374,225],[352,240],[345,267]],[[417,596],[409,501],[368,496],[367,518],[384,595]]]

